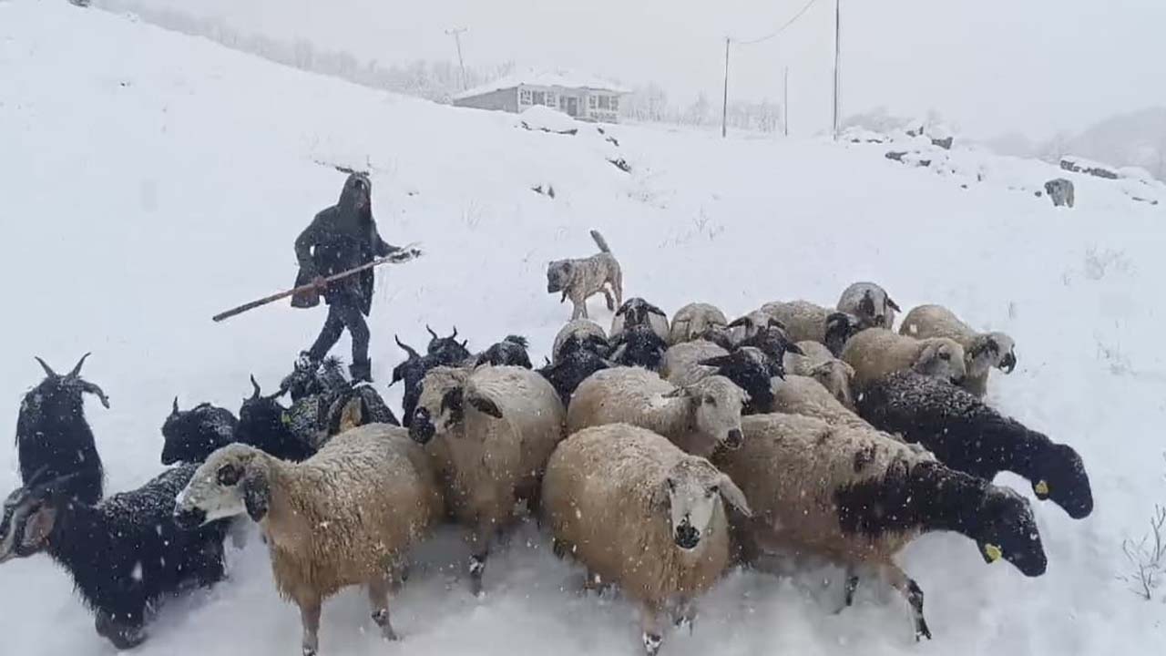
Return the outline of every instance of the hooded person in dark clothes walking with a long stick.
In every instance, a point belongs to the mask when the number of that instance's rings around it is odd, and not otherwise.
[[[300,261],[296,287],[312,281],[317,286],[292,296],[292,307],[316,307],[321,293],[328,303],[324,328],[304,354],[309,361],[319,363],[347,328],[352,336],[352,378],[372,381],[368,326],[364,317],[372,309],[375,273],[368,268],[326,285],[323,279],[399,250],[385,243],[377,232],[368,176],[363,173],[349,175],[339,202],[317,214],[295,240],[295,257]]]

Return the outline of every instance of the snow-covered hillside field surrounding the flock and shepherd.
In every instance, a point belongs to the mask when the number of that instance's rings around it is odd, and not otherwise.
[[[314,337],[323,310],[287,305],[223,324],[216,312],[283,288],[292,242],[371,167],[374,210],[393,243],[427,256],[379,273],[371,320],[379,389],[424,324],[457,324],[471,347],[525,334],[539,361],[569,316],[545,292],[553,258],[593,251],[598,228],[628,295],[673,310],[711,300],[730,314],[763,301],[833,302],[876,279],[904,307],[942,301],[1018,343],[1019,368],[990,400],[1077,448],[1096,510],[1037,507],[1046,575],[985,566],[974,544],[932,535],[901,558],[927,593],[930,643],[912,640],[901,599],[861,587],[831,614],[836,572],[777,579],[735,572],[668,654],[1082,654],[1166,649],[1163,592],[1138,599],[1121,543],[1166,501],[1166,208],[1068,174],[1077,207],[1031,190],[1044,165],[962,153],[979,175],[936,175],[886,147],[719,140],[612,126],[561,135],[518,117],[377,93],[280,68],[208,41],[63,0],[0,2],[0,425],[13,426],[43,356],[86,377],[113,407],[89,417],[108,489],[161,469],[170,399],[238,407],[254,374],[268,389]],[[625,158],[630,174],[609,163]],[[977,179],[982,181],[977,182]],[[532,187],[553,186],[555,197]],[[967,188],[962,186],[967,184]],[[610,314],[593,302],[600,321]],[[347,342],[342,342],[346,354]],[[400,389],[388,390],[399,404]],[[1019,479],[1004,479],[1031,495]],[[17,484],[0,452],[0,488]],[[405,641],[384,644],[364,595],[325,606],[325,654],[638,654],[632,608],[562,588],[577,572],[524,529],[497,552],[479,601],[456,580],[452,532],[426,550],[394,602]],[[66,575],[45,557],[0,567],[0,652],[108,654]],[[163,608],[145,655],[287,655],[298,614],[280,601],[258,539],[231,578]]]

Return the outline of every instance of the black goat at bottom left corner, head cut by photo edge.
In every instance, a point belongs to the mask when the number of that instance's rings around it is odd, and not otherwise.
[[[131,649],[146,640],[154,602],[223,578],[230,521],[194,531],[174,523],[174,500],[196,469],[176,467],[96,505],[72,497],[69,479],[79,474],[50,479],[45,469],[5,502],[0,563],[47,552],[72,575],[97,633]]]

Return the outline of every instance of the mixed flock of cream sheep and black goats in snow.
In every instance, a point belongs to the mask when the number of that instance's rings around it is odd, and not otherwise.
[[[82,395],[108,399],[80,377],[84,358],[65,375],[41,362],[47,377],[20,409],[23,486],[5,503],[0,561],[48,553],[97,631],[131,648],[155,602],[223,578],[224,542],[250,517],[310,656],[322,602],[353,585],[395,640],[389,593],[444,522],[465,528],[482,594],[491,546],[525,507],[586,587],[639,605],[649,655],[669,623],[691,627],[726,568],[763,554],[841,565],[848,606],[861,580],[888,584],[916,638],[930,637],[923,593],[894,563],[907,543],[956,531],[985,561],[1035,577],[1046,557],[1032,508],[992,477],[1014,472],[1075,518],[1093,497],[1076,452],[982,400],[990,370],[1016,367],[1011,339],[940,306],[895,333],[898,309],[870,282],[835,308],[774,302],[736,321],[708,303],[669,321],[635,298],[610,330],[566,324],[540,369],[520,337],[473,355],[456,329],[430,330],[424,354],[398,341],[403,427],[335,361],[301,364],[269,396],[253,379],[238,417],[175,399],[162,461],[178,465],[107,497]]]

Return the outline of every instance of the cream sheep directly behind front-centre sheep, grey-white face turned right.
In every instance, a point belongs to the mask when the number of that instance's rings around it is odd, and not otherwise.
[[[708,456],[722,444],[740,446],[740,413],[747,400],[749,395],[723,376],[677,388],[644,369],[604,369],[575,390],[567,428],[575,433],[623,421],[660,433],[688,453]]]

